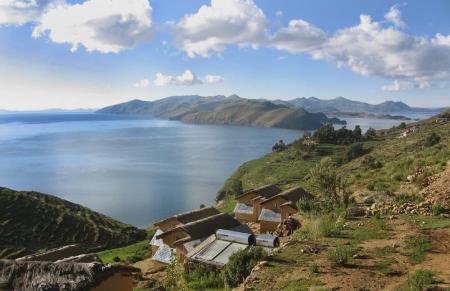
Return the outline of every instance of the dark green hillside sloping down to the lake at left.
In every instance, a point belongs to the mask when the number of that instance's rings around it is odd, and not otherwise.
[[[0,258],[69,243],[117,247],[143,240],[144,230],[37,192],[0,188]]]

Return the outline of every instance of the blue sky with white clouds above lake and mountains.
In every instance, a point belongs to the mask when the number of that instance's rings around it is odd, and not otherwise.
[[[0,0],[0,109],[190,94],[450,106],[450,1]]]

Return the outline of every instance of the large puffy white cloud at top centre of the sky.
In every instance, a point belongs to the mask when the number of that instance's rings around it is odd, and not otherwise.
[[[266,16],[253,0],[211,0],[175,24],[175,34],[189,57],[207,57],[230,44],[256,47],[265,41],[266,26]]]

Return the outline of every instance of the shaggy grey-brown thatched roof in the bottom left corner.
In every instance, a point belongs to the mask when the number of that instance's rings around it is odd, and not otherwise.
[[[139,269],[100,263],[51,263],[0,260],[0,286],[6,290],[84,291],[117,273]]]

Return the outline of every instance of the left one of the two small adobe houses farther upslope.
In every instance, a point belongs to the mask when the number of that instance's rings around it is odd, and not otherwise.
[[[265,185],[237,196],[234,216],[240,221],[258,221],[259,213],[261,211],[259,203],[262,200],[271,198],[281,192],[282,190],[276,185]]]

